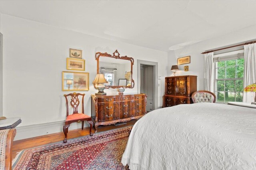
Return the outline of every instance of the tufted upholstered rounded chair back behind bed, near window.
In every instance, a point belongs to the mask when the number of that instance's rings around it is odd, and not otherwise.
[[[192,97],[193,103],[200,103],[200,102],[215,103],[216,102],[215,94],[205,90],[196,91],[192,94],[191,97]]]

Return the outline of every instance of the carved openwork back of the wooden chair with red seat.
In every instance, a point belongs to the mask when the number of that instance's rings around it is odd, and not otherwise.
[[[84,113],[84,96],[85,96],[85,94],[74,92],[74,93],[70,93],[70,94],[64,94],[64,96],[66,98],[67,116],[69,115],[69,112],[68,112],[68,96],[71,96],[70,105],[73,108],[73,114],[78,113],[78,106],[80,104],[79,96],[82,96],[82,113]]]

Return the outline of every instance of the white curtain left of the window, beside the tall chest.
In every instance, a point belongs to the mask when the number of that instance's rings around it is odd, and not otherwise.
[[[213,52],[204,54],[204,90],[214,92]]]

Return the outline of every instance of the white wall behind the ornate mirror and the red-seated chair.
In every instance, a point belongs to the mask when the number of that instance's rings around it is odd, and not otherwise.
[[[97,92],[92,81],[96,76],[95,53],[112,54],[116,49],[121,56],[134,58],[133,79],[137,92],[137,59],[158,62],[158,74],[166,76],[167,53],[86,35],[50,25],[1,14],[3,49],[3,115],[21,117],[15,140],[62,131],[66,118],[62,71],[66,70],[69,48],[82,49],[86,72],[90,73],[90,90],[85,93],[85,113],[91,113],[90,95]],[[72,23],[70,23],[72,24]],[[164,79],[161,86],[164,86]],[[107,93],[117,94],[115,89]],[[162,98],[163,89],[158,94]],[[162,101],[158,101],[162,106]],[[53,123],[51,123],[53,122]],[[48,123],[48,124],[47,124]],[[73,123],[75,124],[75,123]],[[71,125],[70,129],[80,128]]]

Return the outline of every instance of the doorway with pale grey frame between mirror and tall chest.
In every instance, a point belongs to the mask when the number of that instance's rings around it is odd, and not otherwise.
[[[137,60],[138,93],[147,94],[146,111],[152,111],[158,107],[158,63],[152,61]]]

